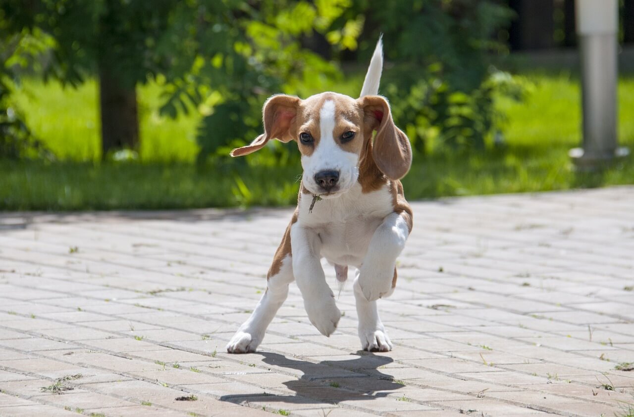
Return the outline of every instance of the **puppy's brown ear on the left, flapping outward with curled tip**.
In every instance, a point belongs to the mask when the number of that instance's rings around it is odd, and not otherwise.
[[[262,149],[269,139],[277,139],[281,142],[290,142],[295,139],[291,134],[291,128],[299,109],[299,97],[277,94],[271,96],[262,108],[262,120],[264,121],[264,133],[256,137],[251,144],[238,147],[231,151],[231,156],[248,155],[251,152]]]

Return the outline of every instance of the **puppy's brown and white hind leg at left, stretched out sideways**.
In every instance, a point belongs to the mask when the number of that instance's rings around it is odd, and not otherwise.
[[[295,217],[294,217],[295,219]],[[291,224],[294,221],[291,222]],[[255,352],[264,339],[266,328],[288,296],[288,284],[293,282],[293,261],[290,250],[290,225],[275,252],[273,265],[266,278],[266,291],[256,309],[227,344],[229,353]]]

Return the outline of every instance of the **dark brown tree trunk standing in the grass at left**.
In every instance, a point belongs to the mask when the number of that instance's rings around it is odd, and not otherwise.
[[[136,149],[139,120],[134,84],[122,82],[108,65],[100,65],[101,158],[110,151]]]

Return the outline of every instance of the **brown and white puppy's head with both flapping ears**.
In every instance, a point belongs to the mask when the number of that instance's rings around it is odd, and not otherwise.
[[[410,141],[394,125],[384,97],[324,92],[302,100],[279,94],[266,101],[262,113],[264,133],[231,156],[255,152],[270,139],[295,140],[302,154],[302,184],[313,194],[328,198],[347,192],[366,158],[392,180],[410,170]]]

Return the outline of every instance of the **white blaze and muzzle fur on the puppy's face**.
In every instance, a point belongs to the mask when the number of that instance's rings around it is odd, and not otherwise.
[[[344,151],[335,142],[336,117],[335,102],[325,101],[320,109],[320,140],[313,154],[302,156],[304,185],[315,194],[320,194],[314,181],[314,175],[319,171],[339,171],[339,189],[341,191],[350,189],[359,176],[357,168],[359,157],[357,154]]]

